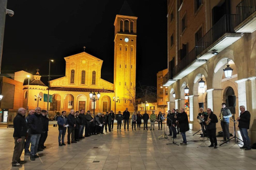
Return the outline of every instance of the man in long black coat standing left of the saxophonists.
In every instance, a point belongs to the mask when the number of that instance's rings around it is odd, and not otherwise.
[[[187,145],[186,132],[189,131],[189,119],[187,119],[187,113],[184,108],[181,108],[181,113],[178,116],[174,116],[177,119],[176,123],[179,123],[179,131],[181,132],[183,142],[181,145]]]

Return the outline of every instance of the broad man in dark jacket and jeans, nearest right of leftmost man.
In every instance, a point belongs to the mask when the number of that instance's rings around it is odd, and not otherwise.
[[[36,155],[36,152],[37,152],[41,132],[43,131],[40,107],[36,107],[35,114],[30,115],[30,118],[28,119],[28,127],[31,130],[30,161],[35,161],[35,158],[39,158],[39,156]]]

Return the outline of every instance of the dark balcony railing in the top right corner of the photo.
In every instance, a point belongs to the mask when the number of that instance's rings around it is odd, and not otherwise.
[[[256,0],[244,0],[236,6],[236,26],[256,11]]]

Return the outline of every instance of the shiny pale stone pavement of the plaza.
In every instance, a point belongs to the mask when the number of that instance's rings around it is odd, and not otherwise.
[[[163,131],[116,131],[91,136],[77,144],[58,146],[58,127],[49,127],[46,149],[40,158],[29,161],[22,168],[12,168],[14,129],[0,127],[0,169],[256,169],[256,150],[241,150],[234,142],[217,149],[200,147],[196,131],[187,132],[188,145],[166,145],[169,140],[159,140]],[[181,142],[178,134],[176,142]],[[221,138],[218,138],[220,144]],[[67,140],[65,140],[66,142]],[[206,142],[210,144],[209,140]],[[231,148],[230,148],[231,147]],[[99,161],[93,163],[93,161]]]

